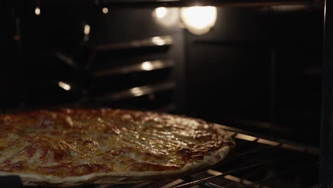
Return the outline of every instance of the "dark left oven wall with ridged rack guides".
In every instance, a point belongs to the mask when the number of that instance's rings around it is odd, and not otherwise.
[[[9,58],[11,62],[5,63],[1,71],[22,73],[17,83],[13,79],[4,81],[7,89],[1,103],[8,105],[1,105],[2,109],[74,105],[184,112],[184,35],[179,17],[174,24],[162,26],[153,18],[151,8],[108,7],[108,13],[103,14],[101,4],[35,3],[21,1],[6,6],[8,24],[14,19],[12,7],[21,21],[22,51],[11,47],[10,53],[19,53],[22,61]],[[40,15],[35,14],[37,6]],[[14,46],[14,31],[9,32],[1,36]],[[172,43],[130,45],[155,36],[169,36]],[[113,44],[118,47],[95,50]],[[98,75],[154,60],[171,62],[171,66],[157,71]],[[65,88],[61,87],[63,83]],[[70,89],[66,90],[68,85]],[[19,89],[23,91],[19,96],[12,95]]]

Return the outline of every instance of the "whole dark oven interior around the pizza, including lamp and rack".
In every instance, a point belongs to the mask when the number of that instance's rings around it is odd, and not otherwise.
[[[205,172],[97,187],[316,187],[324,4],[272,2],[2,1],[0,111],[154,110],[236,140]]]

